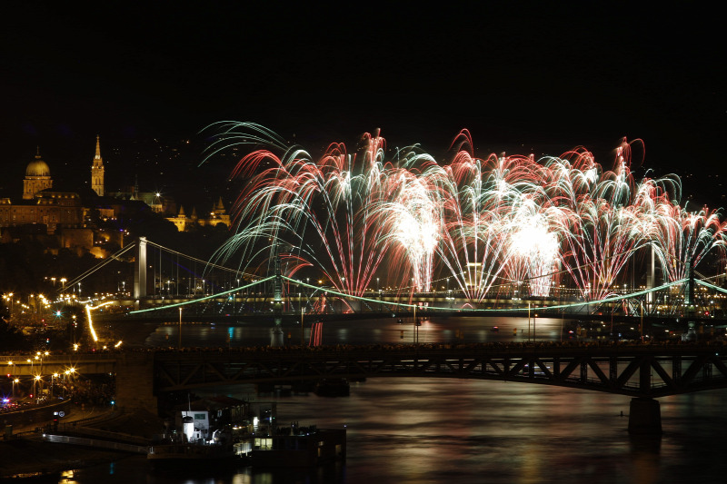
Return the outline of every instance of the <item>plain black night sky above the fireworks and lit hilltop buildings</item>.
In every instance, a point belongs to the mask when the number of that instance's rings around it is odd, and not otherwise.
[[[442,153],[467,128],[479,154],[584,145],[609,166],[626,136],[657,174],[727,175],[727,55],[706,3],[22,4],[0,30],[5,163],[40,144],[85,169],[97,133],[236,120],[312,152],[382,128],[390,147]]]

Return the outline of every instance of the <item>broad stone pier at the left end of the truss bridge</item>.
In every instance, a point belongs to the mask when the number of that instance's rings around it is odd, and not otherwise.
[[[144,409],[156,415],[154,352],[123,352],[116,356],[116,405],[123,410]]]

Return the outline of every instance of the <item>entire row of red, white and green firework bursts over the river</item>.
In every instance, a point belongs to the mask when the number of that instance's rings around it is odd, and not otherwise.
[[[626,140],[611,171],[583,147],[538,161],[480,159],[467,131],[455,137],[449,163],[417,146],[387,161],[379,133],[365,134],[358,153],[333,143],[314,162],[257,125],[215,127],[213,153],[257,148],[234,169],[250,183],[234,204],[234,236],[217,255],[263,266],[280,245],[286,274],[313,267],[351,294],[363,294],[385,260],[400,287],[430,291],[434,276],[452,277],[473,302],[523,282],[546,296],[560,266],[583,298],[597,300],[643,247],[656,249],[668,281],[684,277],[687,261],[725,250],[720,213],[683,209],[676,176],[637,183]]]

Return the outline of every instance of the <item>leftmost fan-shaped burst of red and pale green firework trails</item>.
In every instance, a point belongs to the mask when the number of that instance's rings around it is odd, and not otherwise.
[[[227,130],[225,143],[232,138]],[[262,256],[270,263],[279,245],[286,275],[313,265],[337,290],[362,294],[388,243],[372,215],[387,195],[385,144],[378,136],[366,135],[364,141],[361,162],[342,143],[331,144],[317,163],[301,149],[286,150],[282,157],[268,150],[244,156],[234,175],[251,181],[234,205],[236,232],[217,256],[242,252],[245,261]],[[268,243],[260,247],[261,241]]]

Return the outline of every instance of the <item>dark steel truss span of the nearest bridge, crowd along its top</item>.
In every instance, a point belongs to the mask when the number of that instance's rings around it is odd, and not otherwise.
[[[519,381],[639,398],[727,387],[722,346],[491,344],[157,352],[156,391],[331,378]]]

